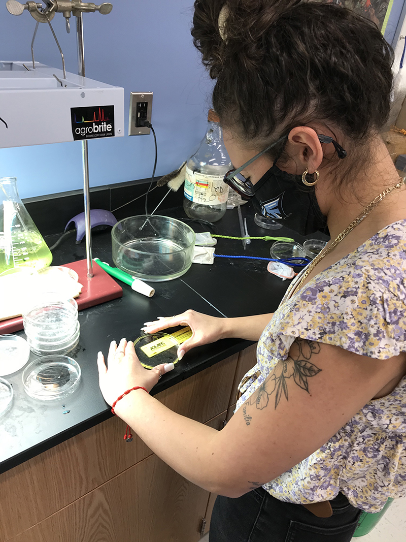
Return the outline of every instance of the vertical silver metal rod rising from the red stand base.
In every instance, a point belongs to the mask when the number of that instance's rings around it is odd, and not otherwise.
[[[76,38],[77,38],[77,63],[78,74],[84,77],[84,43],[83,43],[83,21],[82,13],[76,17]],[[90,224],[90,189],[89,189],[89,157],[87,140],[82,143],[83,161],[83,198],[84,198],[84,229],[86,231],[86,260],[87,276],[93,276],[93,262],[91,260],[91,224]]]

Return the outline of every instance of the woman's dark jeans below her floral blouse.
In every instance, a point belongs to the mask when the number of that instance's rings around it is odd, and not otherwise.
[[[361,510],[339,493],[333,515],[318,518],[302,505],[275,499],[260,487],[238,499],[218,496],[209,542],[350,542]]]

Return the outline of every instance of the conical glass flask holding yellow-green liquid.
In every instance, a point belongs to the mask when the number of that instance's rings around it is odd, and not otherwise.
[[[17,179],[0,179],[0,273],[19,266],[47,267],[52,254],[18,196]]]

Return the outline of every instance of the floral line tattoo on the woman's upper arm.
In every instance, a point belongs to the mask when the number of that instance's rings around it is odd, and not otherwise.
[[[294,382],[299,388],[309,393],[307,379],[316,376],[319,369],[311,360],[320,352],[320,345],[311,340],[297,338],[291,346],[290,355],[283,362],[274,367],[271,377],[268,377],[259,388],[246,401],[242,409],[245,423],[250,425],[251,416],[247,415],[247,405],[255,405],[257,409],[264,409],[273,395],[275,408],[277,408],[282,395],[289,400],[288,384]],[[293,378],[292,378],[293,377]],[[291,379],[291,380],[290,380]]]

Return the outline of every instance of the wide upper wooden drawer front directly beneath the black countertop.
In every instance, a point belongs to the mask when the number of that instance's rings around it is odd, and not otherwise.
[[[157,398],[182,416],[205,423],[227,409],[237,360],[234,354]],[[0,506],[0,541],[16,537],[151,455],[136,436],[131,444],[123,442],[125,428],[122,420],[110,418],[1,474],[0,495],[7,499]]]

